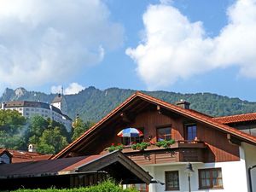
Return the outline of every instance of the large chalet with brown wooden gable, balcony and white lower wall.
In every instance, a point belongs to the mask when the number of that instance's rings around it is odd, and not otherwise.
[[[127,127],[143,131],[143,137],[118,137]],[[175,140],[171,146],[156,146],[170,139]],[[134,150],[131,142],[150,146]],[[189,162],[194,170],[191,191],[256,191],[256,172],[253,183],[247,177],[248,168],[256,164],[256,137],[189,109],[188,102],[173,105],[137,92],[53,159],[108,154],[112,143],[122,143],[127,157],[165,183],[136,185],[141,191],[188,191]]]

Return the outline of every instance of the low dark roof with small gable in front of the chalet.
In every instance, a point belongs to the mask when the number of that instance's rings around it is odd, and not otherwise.
[[[85,172],[105,172],[122,183],[150,183],[153,177],[119,151],[0,165],[0,181],[32,177],[61,177]]]

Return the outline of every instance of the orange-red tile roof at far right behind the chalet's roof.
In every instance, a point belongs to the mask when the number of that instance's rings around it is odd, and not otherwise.
[[[217,117],[212,119],[217,120],[222,124],[240,123],[240,122],[256,120],[256,113],[236,114],[236,115]]]

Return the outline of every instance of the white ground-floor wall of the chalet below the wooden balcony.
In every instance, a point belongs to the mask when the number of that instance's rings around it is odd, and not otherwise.
[[[193,192],[247,192],[247,176],[245,161],[233,161],[223,163],[192,163],[194,173],[191,176],[191,191]],[[205,168],[221,168],[224,183],[224,189],[199,189],[198,169]],[[179,174],[179,189],[178,191],[188,191],[189,182],[188,175],[185,173],[186,164],[177,164],[169,166],[143,166],[156,180],[165,183],[166,171],[178,171]],[[166,191],[165,185],[150,184],[150,192]],[[176,191],[174,191],[176,192]]]

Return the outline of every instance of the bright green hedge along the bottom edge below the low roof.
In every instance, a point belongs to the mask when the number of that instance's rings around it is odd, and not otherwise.
[[[18,189],[15,192],[138,192],[137,189],[122,189],[113,180],[108,179],[95,186],[75,189]]]

